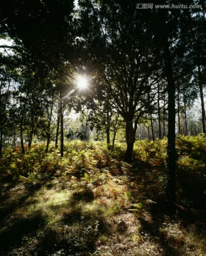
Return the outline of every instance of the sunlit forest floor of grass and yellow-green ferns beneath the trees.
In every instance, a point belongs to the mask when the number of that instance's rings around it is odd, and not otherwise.
[[[177,213],[164,206],[166,139],[36,145],[0,160],[0,255],[206,255],[206,139],[177,141]]]

